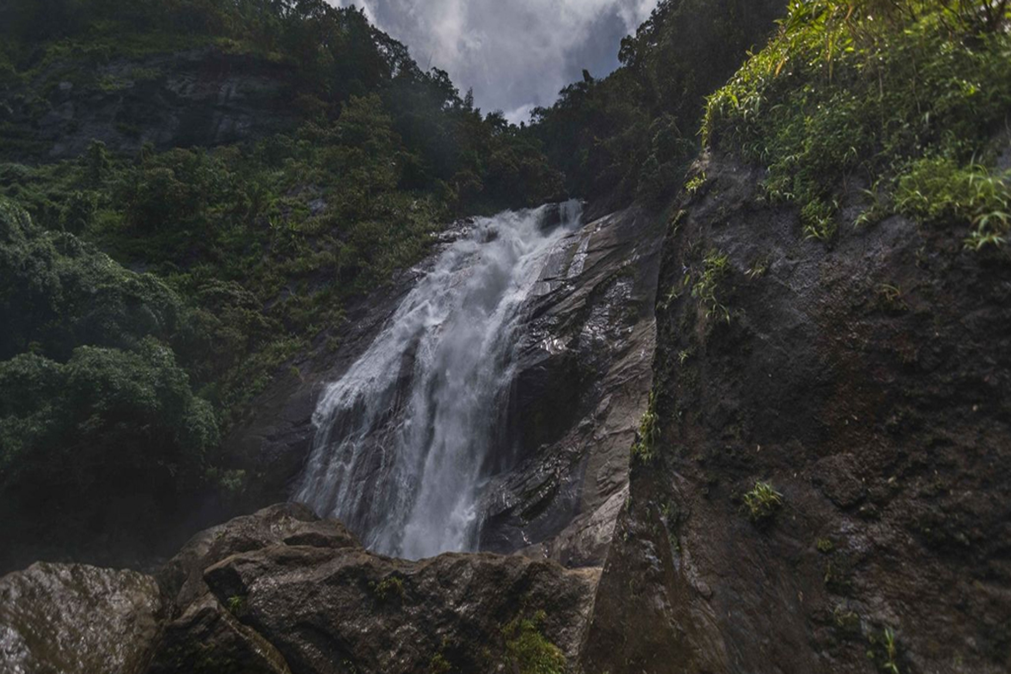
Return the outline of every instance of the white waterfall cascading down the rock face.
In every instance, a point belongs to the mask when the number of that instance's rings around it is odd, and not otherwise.
[[[482,218],[450,246],[320,398],[295,500],[407,559],[476,549],[476,503],[512,380],[522,309],[578,226],[547,209]]]

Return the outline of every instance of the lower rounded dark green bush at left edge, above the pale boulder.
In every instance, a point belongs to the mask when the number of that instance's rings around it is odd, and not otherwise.
[[[81,347],[66,364],[32,354],[2,362],[8,545],[27,536],[73,548],[116,532],[157,539],[151,523],[200,483],[217,442],[210,405],[151,338],[135,352]]]

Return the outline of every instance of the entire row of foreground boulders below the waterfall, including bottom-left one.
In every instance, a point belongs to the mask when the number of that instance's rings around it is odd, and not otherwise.
[[[379,557],[286,503],[198,534],[157,581],[50,564],[5,576],[0,671],[539,671],[577,658],[596,578],[524,557]]]

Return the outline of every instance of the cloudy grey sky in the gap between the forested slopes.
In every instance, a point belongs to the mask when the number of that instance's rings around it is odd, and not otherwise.
[[[618,66],[625,35],[657,0],[331,0],[364,7],[423,69],[441,68],[485,112],[514,122],[565,85]]]

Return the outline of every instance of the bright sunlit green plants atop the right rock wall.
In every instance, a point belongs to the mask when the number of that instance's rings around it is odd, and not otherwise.
[[[971,222],[967,246],[1004,242],[1011,20],[989,0],[794,0],[779,34],[709,99],[704,135],[768,167],[770,199],[831,238],[850,185],[858,223],[898,212]],[[1006,139],[1003,141],[1006,143]]]

